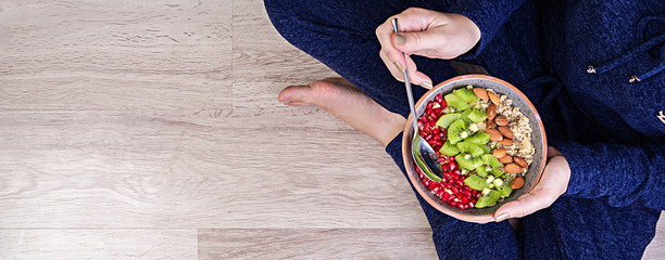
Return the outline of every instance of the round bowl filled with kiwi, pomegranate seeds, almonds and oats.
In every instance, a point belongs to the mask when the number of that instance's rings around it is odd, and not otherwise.
[[[511,83],[486,75],[459,76],[429,90],[415,107],[418,134],[437,152],[443,177],[432,181],[414,164],[412,123],[402,139],[404,166],[416,191],[439,211],[490,222],[501,205],[540,180],[544,128],[531,102]]]

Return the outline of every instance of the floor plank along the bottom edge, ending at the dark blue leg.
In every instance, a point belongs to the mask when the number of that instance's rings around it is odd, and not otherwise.
[[[201,230],[199,259],[437,259],[429,229]]]

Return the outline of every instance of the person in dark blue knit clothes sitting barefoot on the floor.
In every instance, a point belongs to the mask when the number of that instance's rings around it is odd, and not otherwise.
[[[495,223],[455,220],[418,197],[440,258],[642,256],[665,209],[665,2],[265,6],[289,42],[343,77],[289,87],[279,101],[317,105],[376,138],[402,171],[409,106],[394,79],[402,80],[405,64],[411,81],[425,88],[468,68],[487,70],[535,103],[551,145],[545,172],[529,195],[497,211]],[[393,17],[405,32],[392,32]],[[414,89],[416,99],[425,88]],[[517,218],[514,232],[503,220]]]

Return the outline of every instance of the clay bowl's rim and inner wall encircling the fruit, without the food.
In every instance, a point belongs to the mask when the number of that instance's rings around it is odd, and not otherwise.
[[[467,84],[472,84],[474,87],[490,88],[499,94],[507,95],[507,98],[513,101],[513,105],[518,106],[519,110],[530,119],[529,125],[532,130],[531,139],[536,153],[534,154],[534,161],[529,166],[528,172],[525,176],[524,187],[519,190],[514,190],[511,196],[506,197],[503,202],[492,207],[480,209],[460,209],[457,207],[452,207],[444,203],[441,198],[437,197],[436,194],[430,192],[421,182],[421,178],[415,171],[414,161],[411,156],[411,141],[413,136],[412,123],[406,123],[406,127],[404,128],[404,132],[406,134],[404,134],[402,139],[402,155],[404,158],[404,166],[406,167],[409,180],[411,181],[415,190],[421,194],[421,196],[423,196],[425,200],[429,203],[429,205],[431,205],[439,211],[459,220],[486,223],[494,221],[493,213],[499,207],[501,207],[501,205],[519,198],[519,196],[523,196],[536,186],[544,169],[548,143],[544,128],[542,127],[542,120],[540,119],[538,112],[534,107],[534,104],[531,104],[531,102],[524,95],[524,93],[522,93],[511,83],[487,75],[464,75],[446,80],[437,84],[435,88],[425,93],[421,98],[421,100],[418,100],[415,105],[416,114],[418,116],[422,115],[425,112],[426,104],[429,101],[434,101],[437,94],[442,93],[443,95],[446,95],[448,93],[451,93],[454,89]],[[412,120],[412,117],[413,115],[409,117],[409,121]]]

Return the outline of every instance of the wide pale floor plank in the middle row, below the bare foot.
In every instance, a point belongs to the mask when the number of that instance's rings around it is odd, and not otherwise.
[[[426,226],[378,142],[301,109],[0,113],[0,229]]]

